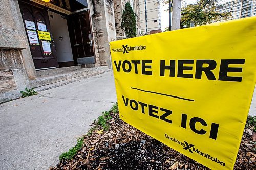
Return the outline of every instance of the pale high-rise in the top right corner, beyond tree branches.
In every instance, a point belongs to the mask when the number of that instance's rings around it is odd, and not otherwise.
[[[222,8],[218,10],[219,13],[231,11],[231,16],[224,20],[233,20],[256,16],[256,0],[233,0],[221,5]]]

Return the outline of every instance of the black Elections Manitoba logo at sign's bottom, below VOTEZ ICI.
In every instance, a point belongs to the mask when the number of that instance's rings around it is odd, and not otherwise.
[[[205,158],[207,158],[207,159],[209,159],[209,160],[211,160],[211,161],[213,161],[213,162],[215,162],[217,164],[221,164],[222,166],[225,166],[224,162],[218,160],[218,158],[216,158],[216,157],[210,156],[208,153],[204,153],[204,152],[200,151],[198,148],[195,148],[194,144],[189,144],[186,141],[184,141],[184,143],[183,143],[183,142],[175,139],[174,137],[170,137],[168,134],[165,134],[164,137],[169,139],[169,140],[171,140],[171,141],[173,141],[173,142],[175,142],[175,143],[177,143],[177,144],[179,144],[179,145],[181,145],[184,150],[187,150],[187,151],[189,151],[192,154],[199,154],[202,157],[205,157]]]

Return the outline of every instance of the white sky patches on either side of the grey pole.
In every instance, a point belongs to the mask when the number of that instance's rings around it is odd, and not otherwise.
[[[194,4],[197,0],[183,0],[187,4]],[[161,29],[165,30],[166,27],[169,27],[169,12],[164,12],[168,8],[168,5],[163,6],[161,1]]]

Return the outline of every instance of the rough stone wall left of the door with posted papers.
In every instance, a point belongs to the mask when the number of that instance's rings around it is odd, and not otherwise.
[[[29,87],[24,56],[29,45],[17,0],[0,3],[0,103],[20,96]],[[22,19],[21,19],[22,21]],[[29,51],[30,52],[30,51]],[[28,59],[29,60],[29,59]],[[32,59],[30,58],[30,61]],[[33,64],[33,61],[32,61]],[[33,77],[32,71],[32,77]]]

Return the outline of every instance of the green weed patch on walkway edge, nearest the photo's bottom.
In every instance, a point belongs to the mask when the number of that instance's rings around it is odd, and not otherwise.
[[[68,152],[64,152],[59,156],[59,161],[62,160],[70,160],[72,159],[75,154],[82,148],[82,144],[83,144],[83,137],[77,139],[77,144],[75,145],[75,147],[70,148]]]

